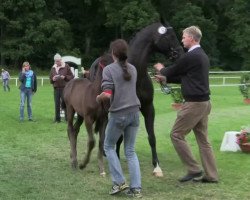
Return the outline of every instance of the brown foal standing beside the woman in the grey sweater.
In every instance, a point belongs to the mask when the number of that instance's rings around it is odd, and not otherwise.
[[[79,168],[84,169],[87,166],[90,160],[91,151],[95,146],[94,132],[99,132],[98,165],[101,176],[105,176],[103,142],[109,105],[108,102],[106,105],[104,105],[105,103],[97,103],[96,96],[101,93],[103,68],[107,63],[111,62],[113,62],[113,59],[110,55],[107,54],[102,56],[98,62],[98,69],[94,81],[90,81],[87,78],[73,79],[68,82],[63,91],[63,99],[66,106],[64,109],[66,109],[67,113],[67,133],[70,141],[71,166],[73,169],[78,167],[77,136],[84,121],[88,133],[88,144],[86,155],[83,162],[79,165]],[[75,113],[77,113],[77,118],[74,123]],[[95,129],[93,130],[94,123]]]

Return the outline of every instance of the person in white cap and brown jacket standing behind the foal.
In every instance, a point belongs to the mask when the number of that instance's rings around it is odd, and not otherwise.
[[[50,71],[50,83],[54,88],[54,102],[55,102],[55,123],[61,122],[60,109],[63,101],[63,89],[68,81],[74,78],[73,73],[67,63],[62,61],[62,57],[57,53],[54,56],[54,65]]]

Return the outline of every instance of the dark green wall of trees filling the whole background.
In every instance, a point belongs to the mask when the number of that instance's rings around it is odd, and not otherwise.
[[[250,69],[249,12],[244,0],[1,0],[0,64],[48,69],[59,52],[89,66],[110,41],[129,40],[161,17],[180,40],[183,28],[198,25],[212,65]]]

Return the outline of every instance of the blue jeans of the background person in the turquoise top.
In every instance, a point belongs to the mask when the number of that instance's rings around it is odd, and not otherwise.
[[[23,90],[20,90],[20,120],[24,120],[24,105],[25,100],[27,98],[27,111],[28,111],[28,118],[32,119],[32,89],[31,88],[24,88]]]

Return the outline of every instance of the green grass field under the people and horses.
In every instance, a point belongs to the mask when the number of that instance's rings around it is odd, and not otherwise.
[[[50,85],[39,87],[33,97],[34,123],[19,123],[20,97],[16,86],[11,85],[10,93],[0,93],[0,199],[125,198],[122,195],[108,195],[111,179],[106,161],[107,176],[103,178],[98,174],[97,148],[94,149],[85,170],[71,170],[66,123],[52,123],[54,103]],[[209,121],[209,138],[214,148],[220,182],[180,184],[177,181],[186,172],[169,138],[176,111],[170,106],[170,96],[156,90],[155,132],[164,177],[152,176],[151,151],[141,117],[136,149],[141,163],[143,199],[250,199],[250,155],[242,152],[220,152],[225,131],[240,130],[241,126],[250,124],[250,106],[243,103],[237,87],[214,87],[211,88],[211,93],[213,108]],[[199,160],[193,134],[187,140]],[[79,160],[83,158],[85,149],[86,131],[82,128],[78,139]],[[127,176],[124,156],[121,157],[121,162]]]

